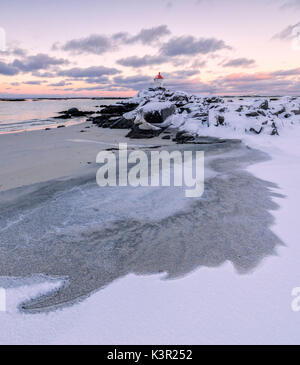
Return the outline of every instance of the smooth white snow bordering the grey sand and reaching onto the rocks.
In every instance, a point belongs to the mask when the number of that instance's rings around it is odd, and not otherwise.
[[[145,91],[135,100],[149,93]],[[245,99],[245,112],[255,110],[261,101],[264,99],[252,106]],[[225,102],[226,123],[222,126],[214,124],[220,113],[215,108],[209,111],[209,126],[189,118],[188,113],[174,114],[164,124],[193,134],[242,138],[251,148],[272,157],[248,170],[275,183],[274,191],[285,196],[273,198],[280,209],[271,212],[275,217],[272,230],[285,244],[277,249],[277,256],[247,275],[237,274],[230,263],[203,267],[176,280],[164,280],[163,273],[146,277],[130,274],[81,303],[47,314],[24,314],[16,308],[25,297],[53,290],[53,282],[49,286],[27,285],[21,292],[18,287],[8,292],[13,309],[0,312],[0,343],[299,344],[300,312],[291,309],[292,289],[300,286],[299,116],[274,118],[279,136],[270,135],[267,128],[256,135],[250,128],[260,127],[263,116],[240,115],[235,112],[239,105]],[[298,110],[299,99],[284,97],[270,102],[270,112],[282,106],[287,112]]]

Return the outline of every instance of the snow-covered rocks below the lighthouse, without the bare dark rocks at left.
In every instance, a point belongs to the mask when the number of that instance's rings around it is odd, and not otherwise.
[[[135,136],[139,129],[155,131],[158,135],[165,128],[175,128],[195,136],[276,136],[284,128],[300,124],[300,98],[290,96],[226,99],[149,88],[123,101],[122,105],[126,112],[120,117],[135,121]],[[115,112],[116,108],[111,107],[111,110]]]

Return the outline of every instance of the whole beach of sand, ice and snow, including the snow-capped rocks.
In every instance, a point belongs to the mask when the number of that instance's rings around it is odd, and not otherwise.
[[[150,90],[127,129],[0,136],[2,344],[298,342],[299,99],[240,99]],[[206,193],[94,186],[97,152],[124,141],[205,150]]]

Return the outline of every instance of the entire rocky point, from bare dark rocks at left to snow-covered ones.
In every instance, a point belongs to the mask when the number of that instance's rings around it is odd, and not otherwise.
[[[148,88],[137,96],[99,111],[71,108],[55,118],[87,117],[101,128],[128,129],[126,137],[148,139],[161,136],[176,143],[203,143],[216,129],[241,134],[278,136],[280,131],[300,121],[300,98],[255,98],[236,102],[217,96],[198,97],[163,87]],[[227,133],[226,133],[227,132]],[[220,134],[220,133],[219,133]]]

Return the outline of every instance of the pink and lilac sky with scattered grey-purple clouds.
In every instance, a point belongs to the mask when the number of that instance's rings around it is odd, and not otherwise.
[[[300,0],[0,3],[0,97],[300,95]]]

